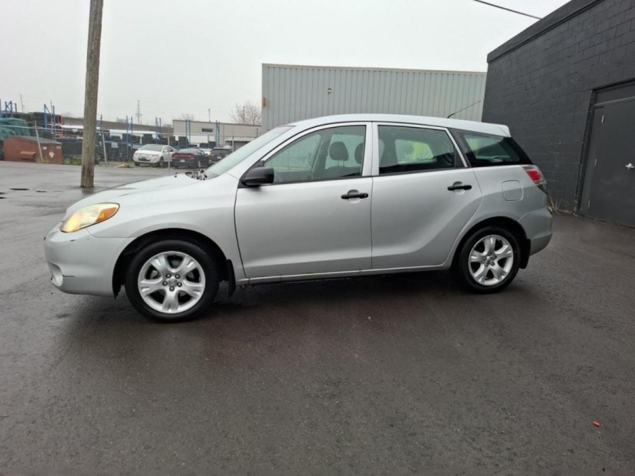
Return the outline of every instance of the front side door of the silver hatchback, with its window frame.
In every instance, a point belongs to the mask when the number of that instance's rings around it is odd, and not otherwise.
[[[358,135],[360,143],[351,145],[335,139],[343,137],[341,131],[351,128],[365,131],[365,136]],[[293,154],[314,157],[312,165],[298,169],[288,164],[288,169],[276,171],[281,183],[238,188],[236,234],[248,278],[306,277],[370,268],[373,179],[368,176],[370,159],[366,160],[371,155],[370,129],[370,124],[364,122],[309,129],[272,150],[262,162],[267,166],[281,157],[286,160],[284,154],[293,150]],[[333,168],[322,172],[344,171],[353,166],[358,176],[348,178],[342,172],[345,178],[316,180],[312,175],[317,173],[316,164],[322,160],[323,165],[333,162],[331,152],[321,155],[324,149],[315,145],[321,135],[330,137],[330,145],[335,145],[331,140],[338,142],[336,149],[342,155],[331,164],[335,165]],[[311,152],[311,147],[316,152]],[[290,156],[296,157],[293,154]]]

